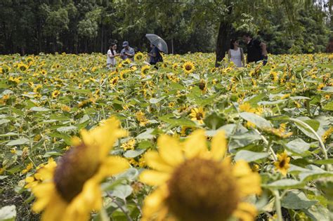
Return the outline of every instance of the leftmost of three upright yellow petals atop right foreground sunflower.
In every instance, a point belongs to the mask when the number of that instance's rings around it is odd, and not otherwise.
[[[176,138],[172,138],[169,135],[161,135],[157,140],[157,146],[159,147],[159,155],[169,165],[177,166],[183,162],[181,146]]]

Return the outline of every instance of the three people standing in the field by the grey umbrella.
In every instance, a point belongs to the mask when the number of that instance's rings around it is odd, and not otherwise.
[[[134,51],[133,48],[131,48],[129,46],[129,41],[124,41],[122,43],[122,51],[120,51],[120,53],[117,53],[117,44],[116,43],[111,43],[111,46],[109,48],[109,50],[107,51],[107,60],[106,60],[106,65],[108,68],[110,67],[114,67],[115,65],[117,65],[117,60],[116,57],[120,57],[122,58],[122,60],[134,60],[134,55],[136,54],[136,52]],[[149,56],[149,63],[150,65],[156,65],[157,62],[162,62],[163,58],[162,55],[159,51],[159,49],[157,48],[157,46],[150,44],[150,48],[152,48],[152,50],[150,51],[150,53],[148,53]]]

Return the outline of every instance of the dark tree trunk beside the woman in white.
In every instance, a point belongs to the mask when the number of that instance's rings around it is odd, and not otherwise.
[[[220,27],[218,27],[218,36],[216,42],[216,62],[215,67],[218,67],[226,56],[226,52],[230,47],[230,33],[231,33],[232,25],[230,20],[222,20],[220,23]]]

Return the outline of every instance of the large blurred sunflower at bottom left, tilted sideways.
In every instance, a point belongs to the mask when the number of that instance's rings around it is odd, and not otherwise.
[[[81,132],[81,141],[58,161],[38,173],[43,182],[32,187],[37,198],[32,209],[44,210],[42,220],[89,220],[91,210],[102,206],[100,182],[122,172],[129,163],[118,156],[108,156],[115,140],[126,135],[119,121],[108,119],[102,126]]]

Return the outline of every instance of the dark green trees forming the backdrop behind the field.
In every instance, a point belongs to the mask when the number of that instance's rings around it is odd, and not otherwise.
[[[174,53],[228,49],[230,37],[251,32],[270,53],[324,51],[332,0],[3,0],[0,53],[91,53],[113,41],[147,50],[146,33]]]

